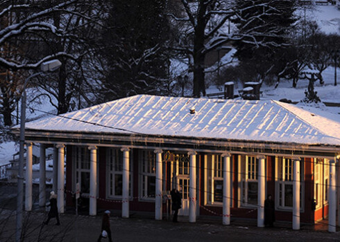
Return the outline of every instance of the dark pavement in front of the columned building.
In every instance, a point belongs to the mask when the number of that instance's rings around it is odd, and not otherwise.
[[[33,187],[37,193],[37,187]],[[47,193],[48,191],[46,191]],[[0,241],[15,241],[15,185],[0,183]],[[111,211],[113,241],[340,241],[340,232],[327,232],[327,221],[318,225],[302,224],[298,231],[291,223],[276,222],[273,228],[259,228],[255,219],[232,218],[230,226],[223,226],[221,217],[199,216],[196,223],[180,216],[179,223],[170,218],[155,221],[152,213],[130,212],[130,218],[121,218],[121,212]],[[24,241],[97,241],[101,233],[101,216],[75,215],[74,208],[60,214],[61,225],[52,218],[44,225],[47,212],[35,205],[24,214]],[[103,239],[102,241],[108,241]]]

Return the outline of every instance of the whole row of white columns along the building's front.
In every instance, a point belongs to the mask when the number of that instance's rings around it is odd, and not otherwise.
[[[26,194],[25,194],[25,210],[32,210],[32,144],[27,143],[26,157]],[[39,205],[44,206],[45,197],[45,146],[40,145],[40,185],[39,185]],[[90,215],[96,215],[96,194],[97,194],[97,147],[89,146],[90,150]],[[123,153],[123,185],[122,185],[122,205],[121,216],[129,217],[129,167],[130,167],[130,149],[128,147],[121,148]],[[162,150],[155,149],[155,219],[162,220]],[[196,151],[189,151],[189,222],[196,222],[197,212],[197,178],[196,178]],[[223,153],[223,225],[230,225],[230,153]],[[206,156],[205,156],[206,159]],[[257,190],[257,227],[264,227],[264,200],[266,191],[266,157],[257,156],[258,165],[258,190]],[[300,160],[294,160],[294,182],[293,182],[293,230],[300,229]],[[336,160],[336,158],[334,158]],[[336,213],[337,213],[337,189],[336,189],[336,162],[330,160],[330,187],[329,187],[329,214],[328,214],[328,231],[336,232]],[[64,185],[65,185],[65,145],[55,145],[53,151],[53,190],[58,193],[58,211],[65,212]],[[207,162],[203,162],[203,169],[206,169]],[[57,169],[54,169],[57,167]],[[205,172],[206,173],[206,172]],[[206,181],[205,181],[206,182]],[[206,187],[206,186],[205,186]],[[205,191],[205,200],[206,200]],[[339,205],[338,205],[339,206]]]

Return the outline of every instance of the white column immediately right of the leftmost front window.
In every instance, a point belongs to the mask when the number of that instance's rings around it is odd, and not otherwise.
[[[90,215],[97,213],[97,147],[90,146]]]

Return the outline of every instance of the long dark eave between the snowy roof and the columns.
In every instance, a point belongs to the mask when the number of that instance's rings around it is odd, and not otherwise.
[[[12,130],[19,135],[19,129]],[[209,153],[239,153],[266,156],[334,158],[340,145],[300,144],[294,142],[265,142],[228,140],[183,136],[136,135],[129,133],[94,133],[76,131],[44,131],[26,129],[26,141],[44,144],[96,145],[99,147],[130,147],[135,149],[195,150]]]

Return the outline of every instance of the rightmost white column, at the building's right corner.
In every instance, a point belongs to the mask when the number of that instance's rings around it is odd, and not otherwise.
[[[337,232],[337,182],[335,172],[336,159],[330,160],[330,198],[328,200],[328,232]]]

